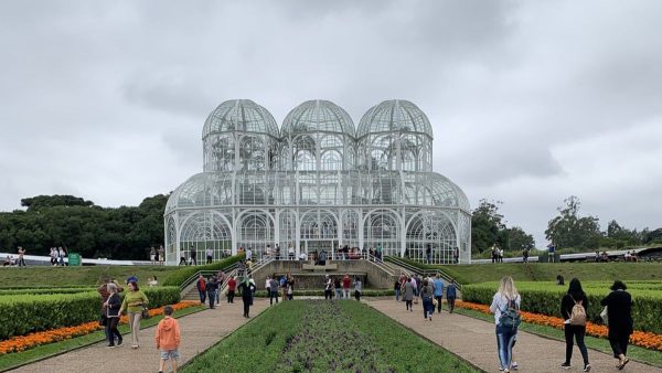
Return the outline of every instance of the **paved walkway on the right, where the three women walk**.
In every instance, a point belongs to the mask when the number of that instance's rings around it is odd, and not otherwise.
[[[389,316],[394,320],[410,328],[417,333],[438,343],[442,348],[471,361],[488,372],[499,372],[496,356],[496,338],[494,324],[458,313],[435,313],[433,321],[423,319],[421,303],[415,305],[414,312],[405,310],[404,302],[393,299],[370,300],[367,303]],[[520,331],[514,349],[515,361],[520,363],[520,372],[564,372],[560,367],[565,359],[565,343]],[[616,359],[610,354],[588,350],[591,372],[619,372]],[[584,364],[579,349],[573,352],[573,367],[565,372],[581,372]],[[662,369],[630,361],[623,372],[662,372]]]

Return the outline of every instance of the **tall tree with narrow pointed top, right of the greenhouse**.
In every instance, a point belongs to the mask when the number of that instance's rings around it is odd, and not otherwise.
[[[594,216],[579,216],[579,199],[575,195],[564,200],[565,206],[558,207],[559,215],[547,224],[545,237],[552,241],[557,248],[564,247],[595,247],[596,239],[601,237],[598,219]]]

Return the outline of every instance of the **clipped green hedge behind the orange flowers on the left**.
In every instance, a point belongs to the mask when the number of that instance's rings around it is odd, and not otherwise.
[[[157,308],[180,300],[178,287],[145,288],[149,307]],[[124,297],[124,294],[120,294]],[[0,340],[62,327],[94,321],[100,315],[96,291],[53,295],[0,296]]]

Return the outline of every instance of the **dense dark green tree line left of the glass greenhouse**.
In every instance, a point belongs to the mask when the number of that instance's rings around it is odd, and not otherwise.
[[[73,195],[23,199],[25,211],[0,213],[0,251],[23,246],[30,255],[49,255],[51,247],[63,246],[88,258],[146,259],[149,247],[163,245],[168,196],[120,207],[102,207]]]

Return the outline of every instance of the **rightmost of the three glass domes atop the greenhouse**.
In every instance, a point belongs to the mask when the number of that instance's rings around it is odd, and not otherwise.
[[[356,138],[370,134],[416,132],[434,138],[433,126],[418,106],[404,99],[391,99],[373,106],[359,122]]]

